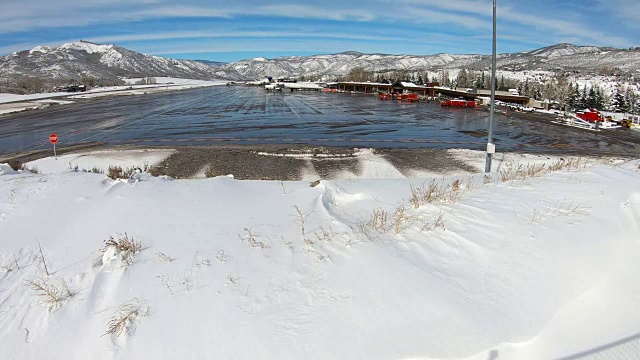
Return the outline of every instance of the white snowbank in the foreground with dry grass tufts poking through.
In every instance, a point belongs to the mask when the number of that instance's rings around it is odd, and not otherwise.
[[[0,358],[551,359],[635,336],[640,162],[565,163],[314,187],[2,165]]]

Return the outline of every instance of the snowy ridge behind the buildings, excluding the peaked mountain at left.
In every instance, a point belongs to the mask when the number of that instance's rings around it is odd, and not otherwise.
[[[338,76],[354,67],[367,71],[393,70],[434,71],[439,69],[488,70],[489,55],[386,55],[345,52],[334,55],[290,56],[276,59],[248,59],[223,65],[247,78],[265,74],[271,76]],[[619,68],[640,69],[640,51],[559,44],[528,52],[498,55],[498,67],[503,70],[547,70],[598,72]]]

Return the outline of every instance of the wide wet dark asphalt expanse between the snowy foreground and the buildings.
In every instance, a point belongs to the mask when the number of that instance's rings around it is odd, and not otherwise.
[[[496,115],[499,151],[640,155],[640,132],[550,124]],[[304,144],[373,148],[466,148],[486,144],[488,112],[379,101],[346,93],[267,93],[220,86],[81,100],[0,117],[0,154],[98,142],[106,146]]]

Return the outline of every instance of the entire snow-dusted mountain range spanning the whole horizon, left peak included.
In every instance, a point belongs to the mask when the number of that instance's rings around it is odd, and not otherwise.
[[[191,79],[254,79],[263,76],[313,76],[325,79],[346,75],[356,67],[385,72],[439,71],[490,68],[489,55],[388,55],[343,52],[331,55],[254,58],[222,64],[200,60],[175,60],[145,55],[116,45],[86,41],[57,47],[38,46],[0,57],[0,77],[38,77],[46,80],[167,76]],[[502,70],[580,71],[640,70],[640,50],[558,44],[533,51],[500,54]]]

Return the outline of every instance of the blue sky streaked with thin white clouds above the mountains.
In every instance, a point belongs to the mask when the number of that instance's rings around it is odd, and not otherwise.
[[[80,39],[236,61],[491,52],[492,0],[0,0],[0,55]],[[498,0],[498,52],[640,46],[640,0]]]

